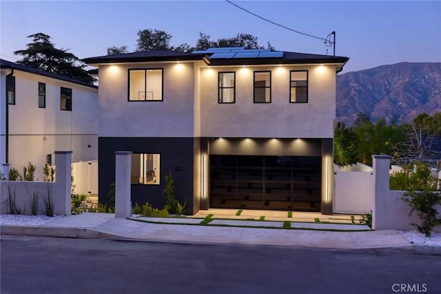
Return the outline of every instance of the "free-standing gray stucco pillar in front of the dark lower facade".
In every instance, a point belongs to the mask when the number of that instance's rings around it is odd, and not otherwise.
[[[132,152],[116,151],[115,167],[115,217],[132,216],[130,202],[130,174],[132,173]]]

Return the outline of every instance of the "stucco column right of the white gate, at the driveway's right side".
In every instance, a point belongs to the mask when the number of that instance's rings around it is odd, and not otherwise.
[[[382,230],[387,228],[387,215],[391,213],[382,199],[389,197],[389,155],[372,155],[373,168],[373,202],[372,202],[372,228]]]

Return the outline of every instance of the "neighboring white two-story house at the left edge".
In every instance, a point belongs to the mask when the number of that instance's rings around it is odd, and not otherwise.
[[[0,60],[0,163],[23,173],[28,162],[55,164],[54,151],[72,162],[98,156],[98,87]]]

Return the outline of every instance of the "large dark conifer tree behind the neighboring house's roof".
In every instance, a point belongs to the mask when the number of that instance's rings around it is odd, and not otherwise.
[[[14,51],[14,55],[23,57],[17,63],[83,81],[86,84],[94,83],[94,77],[84,69],[86,65],[68,50],[55,48],[50,36],[38,32],[29,35],[28,38],[32,38],[32,43],[28,43],[26,49]]]

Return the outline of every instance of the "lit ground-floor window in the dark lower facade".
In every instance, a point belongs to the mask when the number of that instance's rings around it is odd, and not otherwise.
[[[161,155],[152,153],[132,154],[132,184],[159,185]]]

